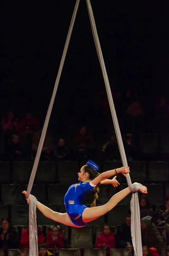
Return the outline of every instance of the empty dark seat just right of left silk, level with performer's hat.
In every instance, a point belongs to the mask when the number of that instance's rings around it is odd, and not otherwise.
[[[36,173],[36,182],[55,182],[56,181],[56,162],[39,162]]]

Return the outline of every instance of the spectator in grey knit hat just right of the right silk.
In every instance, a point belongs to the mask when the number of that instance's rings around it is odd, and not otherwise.
[[[165,243],[162,236],[160,235],[155,224],[152,223],[152,217],[146,216],[141,219],[141,229],[142,229],[142,243],[147,245],[148,248],[154,247],[161,254],[162,248],[165,248]]]

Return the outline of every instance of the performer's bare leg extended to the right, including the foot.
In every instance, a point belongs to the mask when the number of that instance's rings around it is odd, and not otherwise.
[[[145,186],[141,186],[139,191],[142,193],[147,193],[147,188]],[[118,204],[123,198],[129,195],[130,192],[131,191],[129,188],[123,189],[122,191],[113,195],[107,204],[84,209],[82,215],[83,222],[93,221],[99,218],[100,216],[106,214],[111,209],[113,209],[116,206],[116,204]]]

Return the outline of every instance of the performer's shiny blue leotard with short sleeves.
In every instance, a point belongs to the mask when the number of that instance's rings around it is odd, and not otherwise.
[[[93,185],[92,182],[83,181],[69,187],[64,197],[64,204],[66,212],[73,224],[77,226],[85,226],[87,224],[82,220],[82,213],[87,207],[82,205],[81,201],[85,198],[86,193],[94,189],[94,187],[95,185]]]

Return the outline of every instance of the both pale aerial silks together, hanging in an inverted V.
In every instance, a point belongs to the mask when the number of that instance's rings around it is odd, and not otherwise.
[[[59,67],[59,71],[57,74],[57,79],[55,81],[55,85],[54,85],[54,90],[53,90],[53,94],[52,94],[52,98],[51,98],[51,102],[49,104],[49,108],[48,108],[48,112],[46,115],[46,119],[45,119],[45,123],[43,126],[43,131],[40,137],[40,143],[37,149],[37,155],[34,161],[34,166],[32,169],[32,173],[31,173],[31,177],[29,180],[29,185],[28,185],[28,189],[27,189],[27,194],[26,194],[26,198],[29,198],[32,186],[33,186],[33,182],[34,182],[34,177],[36,175],[36,171],[37,171],[37,166],[39,164],[39,160],[40,160],[40,154],[43,148],[43,143],[45,140],[45,136],[46,136],[46,131],[47,131],[47,127],[49,124],[49,119],[50,119],[50,115],[52,112],[52,107],[54,104],[54,99],[56,96],[56,92],[57,92],[57,87],[60,81],[60,76],[62,73],[62,69],[63,69],[63,64],[66,58],[66,52],[69,46],[69,41],[72,35],[72,29],[74,26],[74,21],[76,18],[76,14],[77,14],[77,9],[79,6],[79,2],[80,0],[76,1],[75,7],[74,7],[74,12],[72,15],[72,20],[71,20],[71,24],[69,27],[69,32],[66,38],[66,44],[63,50],[63,55],[60,61],[60,67]],[[120,149],[120,154],[121,154],[121,159],[123,162],[123,166],[127,166],[127,160],[126,160],[126,154],[124,151],[124,147],[123,147],[123,142],[122,142],[122,138],[121,138],[121,134],[120,134],[120,128],[118,125],[118,121],[117,121],[117,116],[116,116],[116,112],[115,112],[115,107],[114,107],[114,103],[113,103],[113,99],[112,99],[112,93],[111,93],[111,89],[110,89],[110,85],[109,85],[109,79],[107,76],[107,72],[106,72],[106,67],[104,64],[104,60],[103,60],[103,55],[102,55],[102,51],[101,51],[101,47],[100,47],[100,42],[99,42],[99,38],[97,35],[97,29],[96,29],[96,25],[95,25],[95,19],[93,16],[93,12],[92,12],[92,6],[90,3],[90,0],[86,0],[87,3],[87,8],[88,8],[88,12],[89,12],[89,18],[90,18],[90,22],[91,22],[91,26],[92,26],[92,33],[93,33],[93,37],[94,37],[94,41],[95,41],[95,46],[96,46],[96,50],[97,50],[97,55],[99,58],[99,62],[100,62],[100,67],[103,73],[103,78],[105,81],[105,85],[106,85],[106,92],[108,95],[108,99],[109,99],[109,105],[110,105],[110,109],[111,109],[111,113],[112,113],[112,119],[113,119],[113,123],[115,126],[115,132],[116,132],[116,136],[117,136],[117,141],[118,141],[118,145],[119,145],[119,149]],[[132,231],[132,241],[133,241],[133,247],[134,247],[134,253],[135,256],[141,256],[142,255],[142,247],[141,247],[141,233],[140,233],[140,209],[139,209],[139,203],[138,203],[138,195],[137,195],[137,189],[139,188],[140,184],[138,184],[137,187],[135,187],[135,184],[132,185],[131,179],[130,179],[130,175],[127,174],[127,183],[128,186],[130,188],[130,190],[133,192],[132,195],[132,200],[131,200],[131,211],[132,211],[132,224],[131,224],[131,231]],[[37,247],[37,224],[36,224],[36,204],[37,204],[37,200],[36,198],[34,198],[33,196],[30,197],[30,203],[29,203],[29,244],[30,244],[30,250],[29,250],[29,255],[30,256],[38,256],[38,247]]]

